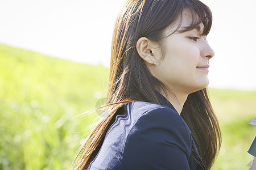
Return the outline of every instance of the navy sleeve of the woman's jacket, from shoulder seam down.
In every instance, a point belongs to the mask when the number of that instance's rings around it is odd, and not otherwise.
[[[177,112],[158,108],[144,113],[127,136],[121,169],[190,169],[190,137]]]

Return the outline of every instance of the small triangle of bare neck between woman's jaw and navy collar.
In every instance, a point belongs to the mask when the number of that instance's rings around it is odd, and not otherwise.
[[[166,96],[162,91],[160,91],[160,94],[162,94],[170,103],[174,106],[176,111],[180,114],[183,108],[183,105],[185,101],[187,100],[188,94],[184,93],[168,93],[168,96]]]

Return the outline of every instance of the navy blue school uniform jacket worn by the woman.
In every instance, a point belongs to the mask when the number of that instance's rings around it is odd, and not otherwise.
[[[205,169],[192,158],[192,150],[200,156],[187,124],[156,94],[162,105],[134,101],[118,109],[88,169]]]

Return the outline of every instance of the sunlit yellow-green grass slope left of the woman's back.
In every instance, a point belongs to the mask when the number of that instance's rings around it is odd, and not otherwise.
[[[67,169],[96,115],[72,117],[95,107],[108,74],[0,44],[0,169]]]

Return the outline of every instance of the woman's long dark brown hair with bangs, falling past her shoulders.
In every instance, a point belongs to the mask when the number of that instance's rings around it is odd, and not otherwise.
[[[115,21],[105,117],[98,122],[76,156],[71,169],[87,169],[95,158],[105,134],[113,124],[117,110],[132,101],[160,104],[155,90],[170,94],[162,82],[151,75],[135,48],[140,37],[163,43],[164,30],[182,16],[187,8],[192,23],[183,30],[189,31],[204,24],[203,35],[208,35],[212,13],[198,0],[129,0]],[[157,88],[157,89],[156,89]],[[167,98],[168,99],[168,98]],[[207,89],[188,95],[181,117],[187,122],[205,167],[210,169],[221,145],[221,132],[210,104]],[[194,155],[194,158],[196,156]],[[198,158],[195,158],[198,161]]]

